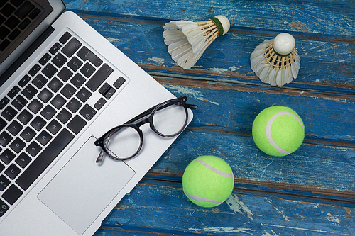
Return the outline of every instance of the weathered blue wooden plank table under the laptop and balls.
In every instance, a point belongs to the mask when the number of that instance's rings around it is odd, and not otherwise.
[[[351,0],[65,0],[67,10],[128,55],[195,118],[95,235],[355,235],[355,10]],[[231,29],[192,69],[163,42],[171,20],[224,15]],[[263,84],[250,55],[263,40],[291,33],[301,57],[292,83]],[[271,157],[251,126],[268,106],[289,106],[305,123],[293,154]],[[222,205],[195,206],[182,174],[201,155],[222,157],[234,191]]]

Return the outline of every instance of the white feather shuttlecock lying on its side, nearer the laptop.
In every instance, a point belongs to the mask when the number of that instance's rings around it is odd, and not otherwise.
[[[228,32],[230,23],[225,16],[215,16],[208,21],[170,21],[164,26],[164,43],[175,62],[190,69],[200,59],[204,50],[219,36]]]

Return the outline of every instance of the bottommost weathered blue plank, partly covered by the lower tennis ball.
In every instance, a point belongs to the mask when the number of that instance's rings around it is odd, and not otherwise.
[[[201,208],[181,182],[144,179],[95,235],[354,235],[354,213],[354,205],[238,189],[225,203]]]

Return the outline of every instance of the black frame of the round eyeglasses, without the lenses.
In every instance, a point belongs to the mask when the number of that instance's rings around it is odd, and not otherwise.
[[[146,123],[149,123],[150,128],[158,135],[162,136],[162,137],[175,137],[176,135],[179,135],[180,133],[182,133],[182,131],[186,128],[187,126],[187,121],[188,121],[188,111],[187,108],[190,108],[192,110],[195,110],[197,108],[196,105],[192,105],[192,104],[187,104],[187,97],[186,96],[180,96],[179,98],[176,99],[170,99],[168,101],[165,101],[163,103],[159,103],[158,105],[153,106],[152,108],[149,108],[148,110],[144,111],[143,113],[139,114],[138,116],[132,118],[131,120],[127,121],[126,123],[124,123],[123,125],[118,125],[114,128],[111,128],[111,130],[107,131],[107,133],[104,133],[104,135],[102,135],[101,137],[99,137],[95,142],[94,145],[97,147],[101,147],[102,150],[104,151],[104,153],[106,153],[109,157],[111,157],[112,159],[115,160],[127,160],[127,159],[131,159],[133,157],[135,157],[142,149],[143,147],[143,132],[140,129],[141,125],[144,125]],[[167,108],[168,106],[172,106],[175,103],[181,103],[183,108],[185,109],[185,114],[186,114],[186,119],[185,119],[185,123],[184,125],[182,125],[182,128],[175,134],[173,135],[165,135],[163,133],[160,133],[155,127],[154,127],[154,123],[153,123],[153,116],[155,114],[156,111],[159,111],[163,108]],[[141,120],[142,118],[148,116],[148,118],[145,118],[143,120]],[[138,120],[141,120],[138,123],[134,123]],[[133,128],[137,131],[137,133],[139,134],[139,137],[141,139],[141,143],[138,147],[138,150],[132,154],[130,157],[124,157],[124,158],[119,158],[119,157],[114,157],[112,156],[109,151],[107,150],[107,147],[105,147],[105,145],[107,145],[107,143],[109,142],[109,136],[113,135],[114,133],[116,133],[118,130],[120,130],[121,128],[124,127],[129,127],[129,128]],[[105,140],[107,140],[107,142],[105,143]],[[100,154],[101,156],[101,154]],[[102,158],[97,159],[97,163],[102,162]]]

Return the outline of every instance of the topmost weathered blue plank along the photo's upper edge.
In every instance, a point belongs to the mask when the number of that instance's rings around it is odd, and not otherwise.
[[[353,1],[65,1],[67,9],[103,15],[204,21],[225,15],[234,26],[354,37]]]

